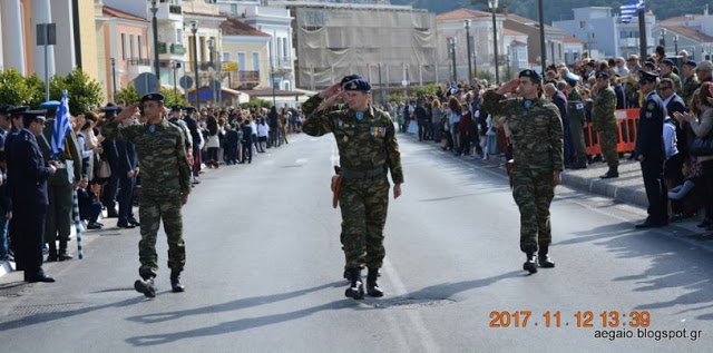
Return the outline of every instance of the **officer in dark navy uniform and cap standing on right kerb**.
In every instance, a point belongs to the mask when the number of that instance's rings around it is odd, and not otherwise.
[[[636,151],[642,165],[644,187],[648,198],[648,217],[644,223],[637,224],[637,229],[663,227],[668,225],[668,212],[666,209],[666,187],[663,180],[664,164],[664,118],[666,107],[656,94],[658,75],[649,71],[639,71],[641,92],[644,94],[644,105],[638,112],[638,127],[636,136]]]

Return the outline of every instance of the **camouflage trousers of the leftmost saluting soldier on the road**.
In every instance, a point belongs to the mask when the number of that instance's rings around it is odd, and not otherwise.
[[[168,239],[168,268],[172,272],[182,272],[186,264],[186,247],[183,242],[180,196],[173,193],[157,195],[144,190],[139,199],[138,214],[141,220],[141,239],[138,242],[138,259],[141,266],[138,274],[146,277],[156,276],[158,272],[156,236],[162,218]]]

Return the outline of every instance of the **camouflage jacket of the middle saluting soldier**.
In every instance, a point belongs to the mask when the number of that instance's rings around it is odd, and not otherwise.
[[[304,104],[303,111],[306,114],[309,109],[311,114],[302,125],[303,133],[310,136],[333,133],[342,168],[365,171],[384,166],[391,170],[394,184],[403,183],[401,153],[388,112],[369,105],[359,121],[351,109],[314,111],[321,101],[316,95]]]

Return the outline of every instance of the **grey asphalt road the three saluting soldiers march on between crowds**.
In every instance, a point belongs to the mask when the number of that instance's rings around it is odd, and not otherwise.
[[[0,351],[710,352],[710,244],[635,231],[643,209],[558,187],[557,267],[527,275],[504,173],[401,148],[383,298],[343,296],[335,145],[300,135],[203,176],[184,207],[185,293],[169,291],[163,233],[154,300],[133,290],[138,229],[86,234],[85,259],[46,266],[57,283],[0,277]]]

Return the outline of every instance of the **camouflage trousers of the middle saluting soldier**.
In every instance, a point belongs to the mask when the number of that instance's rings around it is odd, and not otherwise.
[[[381,267],[387,254],[383,248],[383,226],[389,208],[387,178],[344,179],[339,206],[345,267]]]

